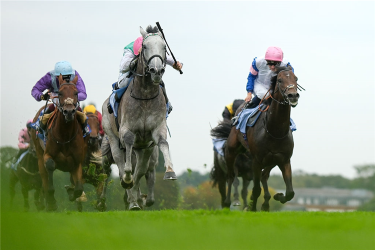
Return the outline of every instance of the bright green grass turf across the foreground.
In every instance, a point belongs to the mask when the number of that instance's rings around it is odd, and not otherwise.
[[[373,249],[373,212],[0,213],[0,249]]]

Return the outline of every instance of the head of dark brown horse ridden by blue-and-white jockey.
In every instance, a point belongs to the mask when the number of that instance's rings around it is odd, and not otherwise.
[[[271,89],[279,103],[289,104],[295,107],[298,104],[299,93],[297,91],[297,76],[289,67],[276,66],[275,75],[271,79]]]

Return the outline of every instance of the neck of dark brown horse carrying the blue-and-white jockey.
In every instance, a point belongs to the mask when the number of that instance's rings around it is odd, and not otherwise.
[[[274,96],[275,97],[275,96]],[[279,100],[282,102],[282,100]],[[290,105],[272,100],[266,113],[266,126],[274,136],[284,135],[290,128]]]

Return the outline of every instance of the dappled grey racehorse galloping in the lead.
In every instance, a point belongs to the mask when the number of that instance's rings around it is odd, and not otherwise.
[[[137,58],[135,76],[119,102],[117,121],[107,110],[109,98],[102,106],[102,126],[118,166],[121,186],[127,189],[129,210],[141,209],[137,203],[139,180],[147,172],[155,145],[164,156],[164,179],[177,179],[166,141],[166,102],[159,86],[166,65],[166,46],[156,27],[149,25],[146,30],[140,27],[142,50]],[[133,174],[132,150],[136,155]]]

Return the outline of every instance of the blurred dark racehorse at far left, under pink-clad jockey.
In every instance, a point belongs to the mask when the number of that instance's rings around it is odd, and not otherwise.
[[[27,132],[30,135],[30,128]],[[28,152],[20,160],[16,170],[11,169],[9,179],[10,206],[13,204],[15,195],[15,184],[19,181],[23,195],[23,208],[27,211],[30,208],[28,203],[28,191],[35,189],[34,204],[37,210],[44,209],[44,197],[42,195],[42,183],[38,172],[38,161],[35,154],[35,146],[32,140],[29,142]]]

